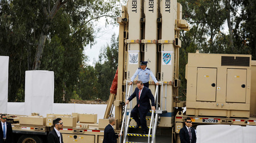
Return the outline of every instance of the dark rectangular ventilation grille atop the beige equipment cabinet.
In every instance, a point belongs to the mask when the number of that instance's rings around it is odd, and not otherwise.
[[[250,67],[250,57],[228,57],[221,56],[221,66]]]

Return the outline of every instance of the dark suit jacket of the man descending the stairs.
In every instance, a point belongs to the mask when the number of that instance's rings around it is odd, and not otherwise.
[[[136,97],[137,99],[137,105],[139,106],[139,110],[142,111],[142,113],[147,113],[150,109],[151,106],[155,106],[155,98],[151,93],[151,90],[147,87],[144,86],[144,88],[142,89],[142,92],[140,93],[140,100],[139,100],[139,89],[136,88],[134,93],[132,93],[132,95],[129,97],[129,101],[131,101],[132,99],[134,99]],[[151,106],[150,106],[150,101],[151,100]]]

